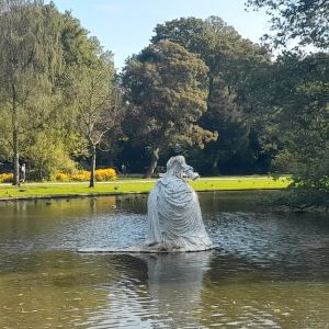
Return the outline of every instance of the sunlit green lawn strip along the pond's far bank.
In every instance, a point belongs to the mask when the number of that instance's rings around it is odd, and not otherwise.
[[[106,195],[121,193],[146,193],[155,185],[157,180],[124,179],[106,183],[97,183],[95,188],[88,188],[83,183],[26,183],[20,188],[9,184],[0,184],[0,201],[25,197],[49,196],[79,196],[79,195]],[[268,175],[256,177],[223,177],[202,178],[191,185],[196,191],[213,190],[258,190],[258,189],[284,189],[288,185],[288,177],[274,180]]]

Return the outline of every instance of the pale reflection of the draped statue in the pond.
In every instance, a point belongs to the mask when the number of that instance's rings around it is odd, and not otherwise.
[[[168,316],[168,324],[201,325],[194,310],[201,304],[203,274],[208,270],[211,254],[212,251],[147,257],[150,296],[157,300],[158,314]]]

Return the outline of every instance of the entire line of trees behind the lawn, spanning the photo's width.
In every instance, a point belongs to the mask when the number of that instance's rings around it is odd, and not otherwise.
[[[315,46],[325,48],[324,31],[316,25]],[[118,75],[69,12],[2,0],[0,52],[0,161],[12,163],[15,184],[22,162],[34,180],[89,169],[91,186],[95,167],[150,177],[180,144],[203,174],[288,172],[328,188],[324,50],[274,59],[217,16],[182,18],[157,25]]]

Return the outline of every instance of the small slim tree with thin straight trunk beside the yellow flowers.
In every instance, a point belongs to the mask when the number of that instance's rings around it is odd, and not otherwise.
[[[100,49],[101,52],[101,49]],[[111,53],[101,53],[88,66],[73,68],[77,127],[91,154],[90,188],[95,182],[97,147],[123,118],[121,94],[115,87]]]

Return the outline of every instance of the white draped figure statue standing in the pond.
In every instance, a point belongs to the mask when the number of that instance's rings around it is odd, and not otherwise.
[[[148,197],[148,252],[202,251],[214,248],[202,220],[198,198],[186,179],[198,178],[183,156],[167,162],[167,172]]]

